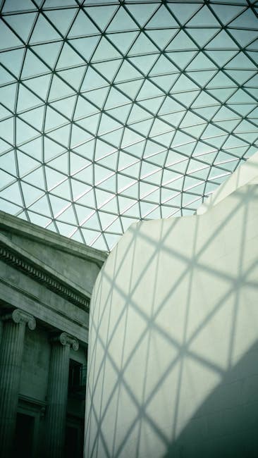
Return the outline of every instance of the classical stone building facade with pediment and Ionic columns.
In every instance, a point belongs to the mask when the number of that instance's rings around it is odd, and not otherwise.
[[[0,456],[82,456],[89,306],[106,254],[0,212]]]

